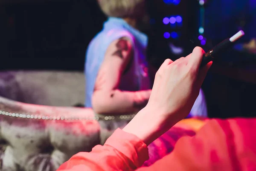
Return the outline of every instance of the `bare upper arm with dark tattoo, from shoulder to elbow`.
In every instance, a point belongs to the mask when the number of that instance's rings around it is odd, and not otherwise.
[[[131,41],[126,37],[114,40],[108,46],[96,78],[95,91],[113,90],[118,87],[120,77],[133,57],[132,52]]]

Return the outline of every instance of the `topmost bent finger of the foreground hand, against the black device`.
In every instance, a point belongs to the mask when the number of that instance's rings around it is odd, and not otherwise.
[[[204,49],[201,47],[195,47],[191,56],[189,57],[188,66],[198,70],[203,60],[204,54]]]

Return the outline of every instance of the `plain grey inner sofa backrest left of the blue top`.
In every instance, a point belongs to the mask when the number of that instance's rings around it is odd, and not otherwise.
[[[52,106],[84,104],[84,90],[82,72],[0,72],[0,96],[23,103]]]

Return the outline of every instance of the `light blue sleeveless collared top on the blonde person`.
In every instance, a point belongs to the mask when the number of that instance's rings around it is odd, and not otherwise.
[[[125,91],[150,89],[148,63],[145,57],[148,37],[131,27],[125,20],[110,17],[104,23],[102,31],[93,38],[87,48],[84,70],[86,79],[86,107],[92,107],[91,97],[99,68],[105,57],[105,52],[114,40],[121,37],[130,39],[134,49],[134,57],[131,68],[121,77],[119,89]]]

